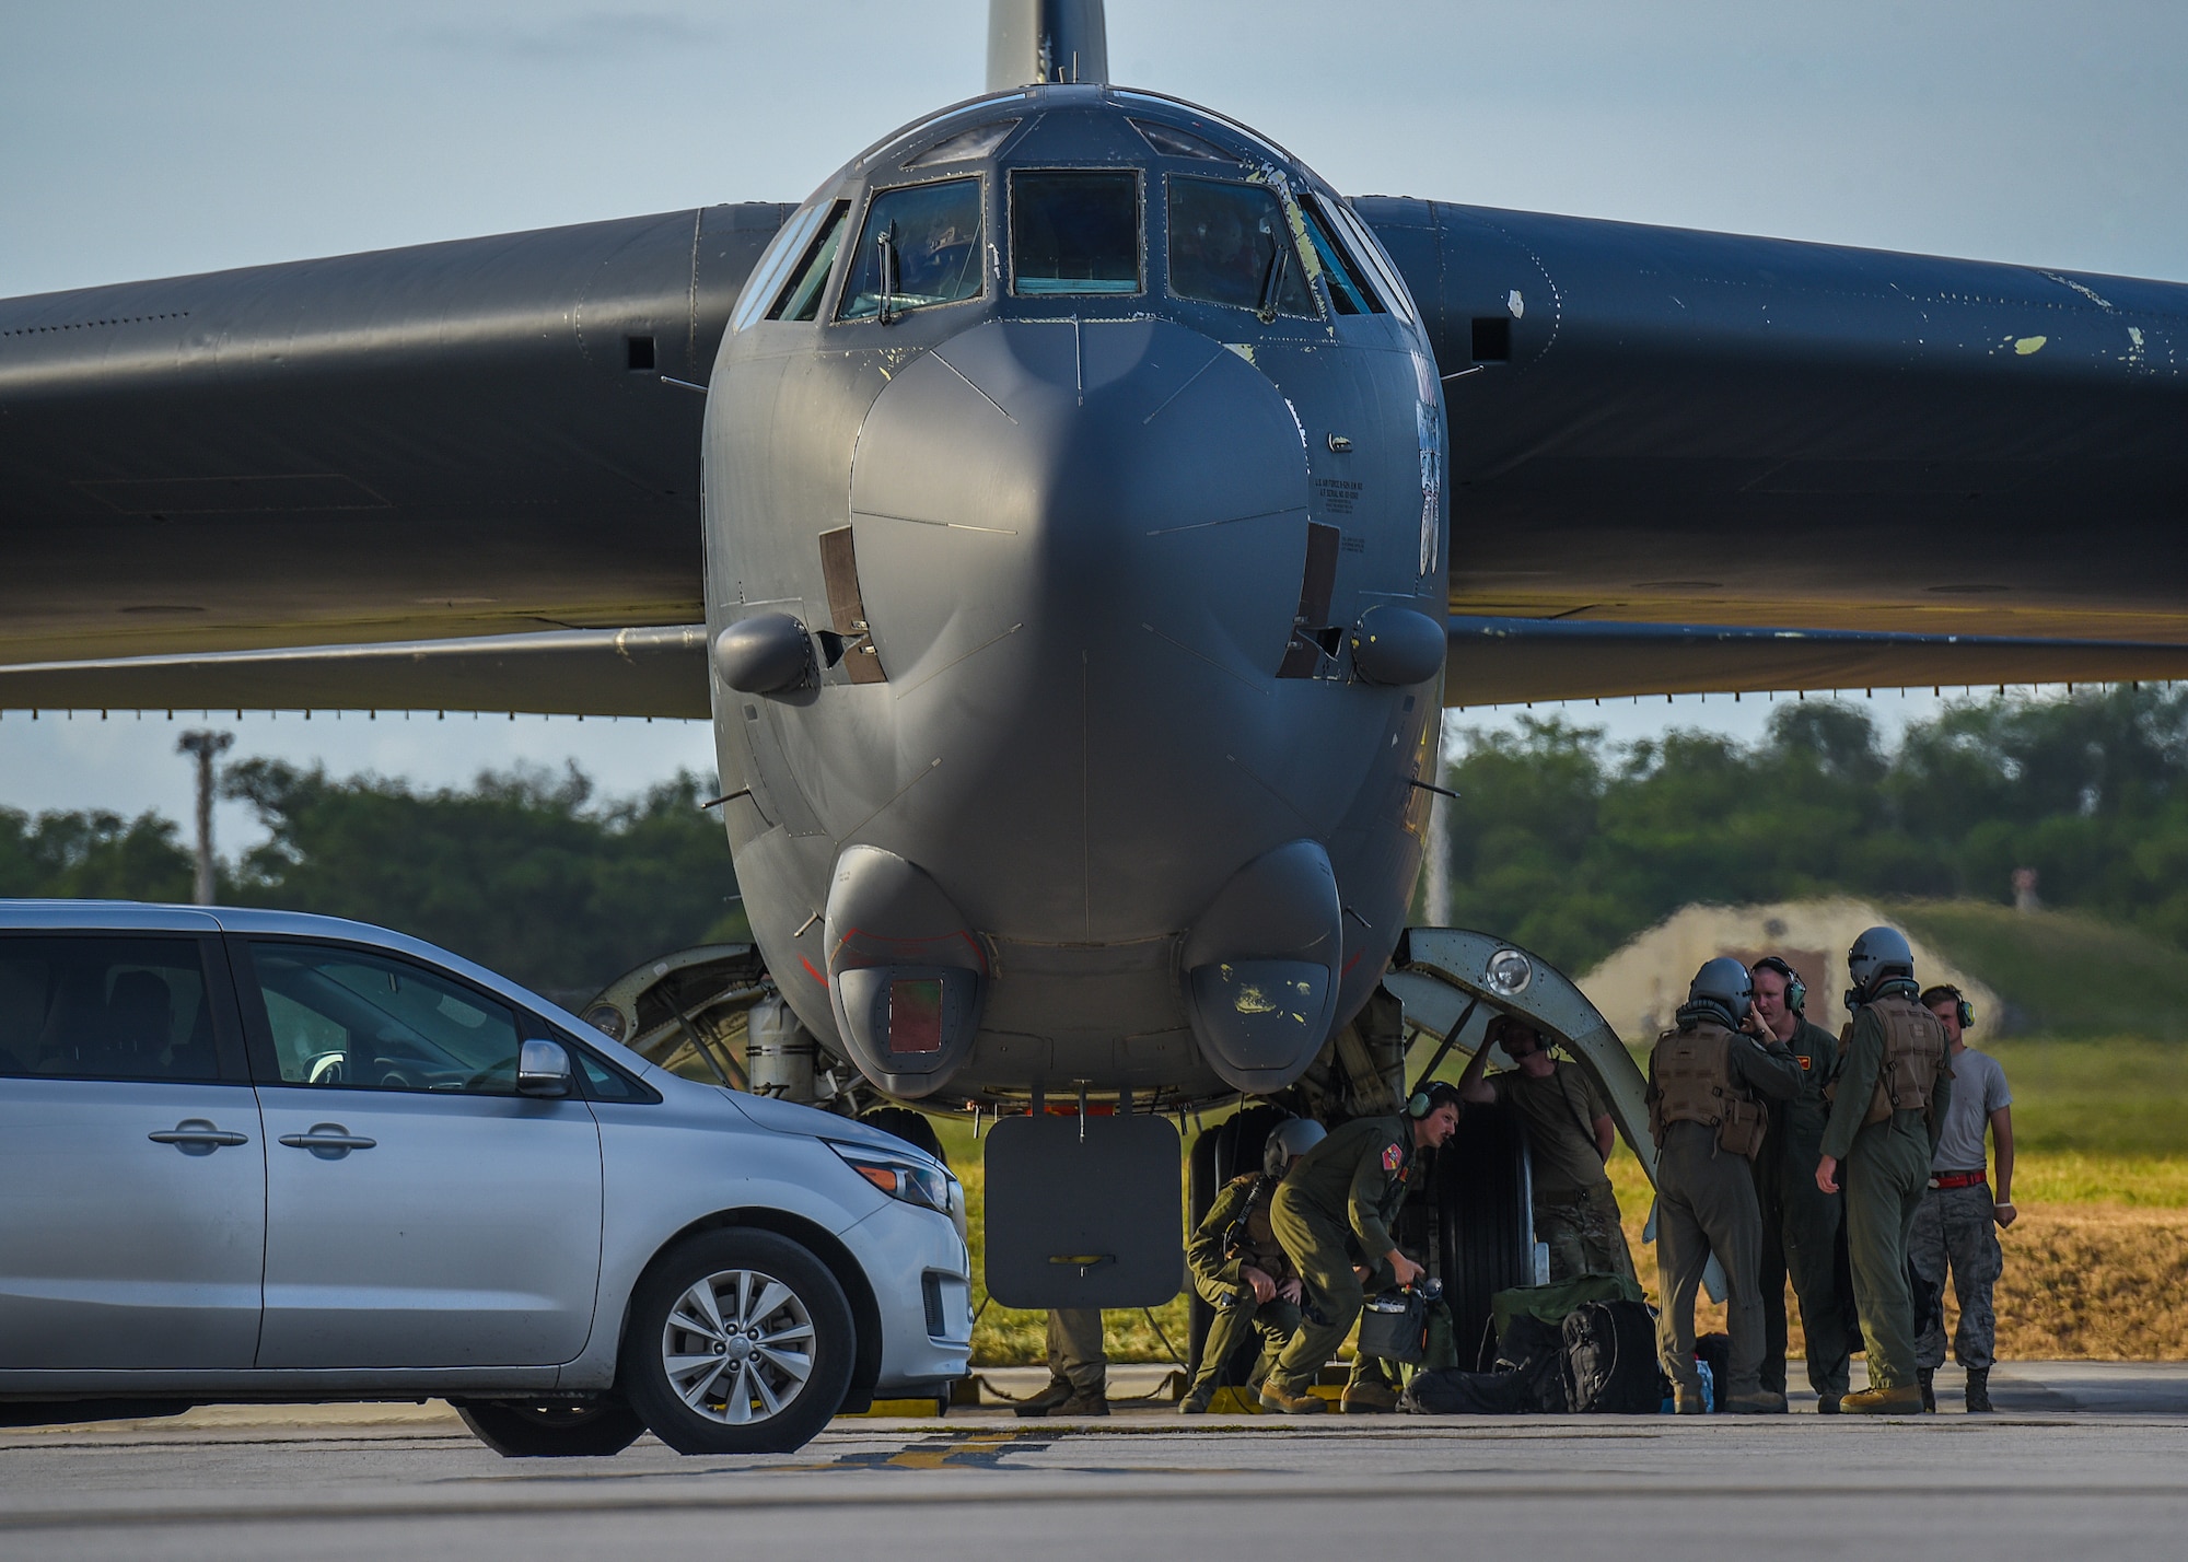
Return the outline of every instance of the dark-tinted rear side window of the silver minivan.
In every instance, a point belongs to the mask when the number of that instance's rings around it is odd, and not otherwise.
[[[0,939],[0,1076],[219,1081],[206,945]]]

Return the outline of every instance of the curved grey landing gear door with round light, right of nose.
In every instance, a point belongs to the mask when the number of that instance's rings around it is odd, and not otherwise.
[[[1648,1131],[1648,1079],[1626,1044],[1564,971],[1508,939],[1464,928],[1409,928],[1383,984],[1405,1000],[1407,1026],[1448,1035],[1466,1006],[1475,1013],[1457,1046],[1475,1052],[1497,1015],[1525,1019],[1580,1063],[1604,1092],[1610,1120],[1626,1135],[1650,1181],[1656,1140]],[[1424,1068],[1427,1054],[1411,1063]]]

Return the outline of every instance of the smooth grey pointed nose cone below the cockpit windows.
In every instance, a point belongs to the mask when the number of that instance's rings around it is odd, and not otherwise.
[[[1162,319],[987,322],[908,363],[851,475],[897,742],[886,825],[978,928],[1147,939],[1300,812],[1276,672],[1306,442],[1241,352]]]

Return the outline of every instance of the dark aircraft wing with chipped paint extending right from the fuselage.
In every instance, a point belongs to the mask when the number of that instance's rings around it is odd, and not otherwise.
[[[2188,287],[1354,208],[1444,376],[1453,700],[2188,676]]]

